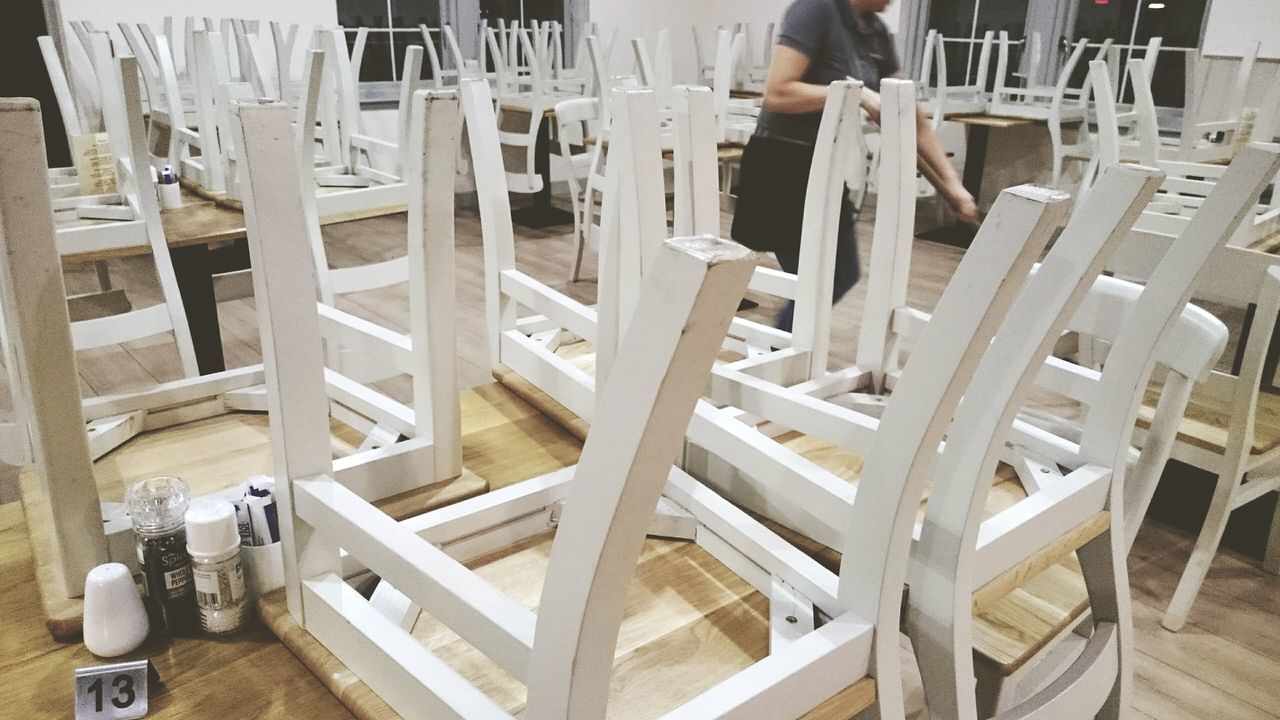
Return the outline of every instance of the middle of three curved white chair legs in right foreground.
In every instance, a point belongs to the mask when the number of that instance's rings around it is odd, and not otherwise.
[[[959,682],[973,676],[968,628],[974,583],[969,574],[980,564],[978,532],[986,496],[1012,419],[1073,311],[1158,183],[1158,172],[1144,168],[1114,168],[1102,177],[1100,192],[1091,196],[1087,211],[1078,213],[1066,227],[1038,272],[1027,281],[1021,301],[1004,319],[973,374],[965,401],[959,405],[946,448],[936,466],[929,468],[934,478],[933,492],[919,544],[911,556],[908,632],[920,659],[929,706],[943,708],[945,715],[977,716],[972,683]],[[936,315],[929,328],[938,320]],[[905,373],[902,379],[905,384]],[[1137,393],[1140,397],[1142,389]],[[1000,401],[970,402],[970,398],[987,397]],[[1116,477],[1120,474],[1114,465],[1102,468]],[[1074,503],[1066,501],[1071,495]],[[1105,496],[1093,496],[1093,502],[1085,502],[1084,497],[1080,488],[1055,495],[1051,501],[1057,502],[1052,502],[1051,512],[1062,519],[1046,523],[1046,530],[1062,525],[1074,528],[1105,510]],[[1057,537],[1044,534],[1024,538],[1028,556]],[[948,665],[955,666],[951,673],[946,670]],[[952,673],[955,680],[951,683],[938,678]],[[1102,692],[1101,697],[1106,694]]]

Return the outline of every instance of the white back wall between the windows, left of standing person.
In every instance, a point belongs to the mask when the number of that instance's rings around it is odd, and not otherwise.
[[[694,54],[692,27],[696,26],[705,42],[712,44],[717,26],[730,26],[739,22],[751,23],[754,33],[753,50],[763,53],[760,42],[764,27],[778,22],[791,0],[589,0],[590,22],[600,26],[602,35],[608,38],[614,28],[618,40],[613,49],[611,70],[613,73],[632,72],[631,38],[644,37],[653,46],[658,31],[663,27],[671,33],[672,63],[677,82],[694,79],[696,64]],[[891,31],[897,29],[897,0],[884,13],[884,22]],[[710,49],[709,51],[714,51]],[[710,61],[708,58],[707,61]]]

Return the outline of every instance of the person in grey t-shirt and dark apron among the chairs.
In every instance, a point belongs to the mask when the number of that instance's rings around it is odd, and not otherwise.
[[[861,81],[863,108],[879,122],[881,78],[899,77],[893,38],[877,17],[890,3],[795,0],[782,18],[764,88],[764,108],[742,152],[732,236],[753,250],[773,252],[788,273],[800,265],[805,188],[827,87],[850,77]],[[961,223],[977,225],[977,204],[947,161],[923,113],[916,113],[916,138],[920,172]],[[846,187],[840,208],[833,304],[854,287],[860,274],[854,206],[847,196]],[[794,309],[791,302],[778,316],[780,328],[791,329]]]

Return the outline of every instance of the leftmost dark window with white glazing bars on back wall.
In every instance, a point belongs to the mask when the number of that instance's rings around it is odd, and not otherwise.
[[[440,0],[338,0],[338,23],[347,28],[347,46],[353,47],[360,28],[369,28],[360,82],[397,82],[406,49],[422,45],[419,24],[440,27]],[[440,50],[439,37],[434,38]],[[424,76],[430,76],[428,63]]]

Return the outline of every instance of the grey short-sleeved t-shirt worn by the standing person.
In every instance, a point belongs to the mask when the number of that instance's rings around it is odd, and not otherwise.
[[[850,0],[795,0],[782,17],[778,45],[810,60],[804,82],[831,85],[851,77],[879,91],[881,78],[899,70],[888,28],[874,14],[861,18]],[[813,145],[822,113],[787,114],[760,110],[756,132]]]

